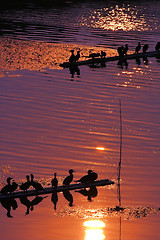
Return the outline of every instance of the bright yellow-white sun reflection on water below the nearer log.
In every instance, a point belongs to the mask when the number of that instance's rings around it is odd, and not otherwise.
[[[100,220],[90,220],[90,221],[85,221],[83,226],[86,227],[84,240],[104,240],[105,239],[105,235],[102,229],[105,227],[104,222]]]

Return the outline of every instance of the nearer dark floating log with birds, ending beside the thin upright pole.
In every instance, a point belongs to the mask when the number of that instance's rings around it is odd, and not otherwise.
[[[65,190],[71,191],[75,189],[81,189],[81,188],[88,188],[92,186],[106,186],[106,185],[111,185],[114,184],[113,181],[110,181],[108,179],[103,179],[99,181],[94,181],[94,182],[88,182],[88,183],[79,183],[79,184],[70,184],[68,186],[58,186],[57,188],[54,187],[48,187],[44,188],[44,190],[28,190],[28,191],[17,191],[12,194],[0,194],[0,200],[2,199],[7,199],[7,198],[19,198],[22,196],[35,196],[35,195],[43,195],[43,194],[49,194],[53,192],[63,192]]]

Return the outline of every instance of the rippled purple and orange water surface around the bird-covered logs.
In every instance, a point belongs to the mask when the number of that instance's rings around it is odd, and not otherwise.
[[[70,49],[113,56],[117,46],[129,43],[132,52],[141,40],[154,50],[159,5],[68,2],[1,10],[1,186],[8,176],[21,183],[34,173],[47,187],[54,172],[61,185],[70,168],[75,180],[93,169],[117,183],[121,99],[124,208],[115,208],[116,184],[98,188],[92,202],[72,191],[73,207],[59,193],[56,211],[49,195],[26,216],[17,200],[13,219],[1,207],[2,239],[159,239],[159,60],[80,66],[74,73],[59,67]],[[97,219],[105,226],[94,231],[86,221]]]

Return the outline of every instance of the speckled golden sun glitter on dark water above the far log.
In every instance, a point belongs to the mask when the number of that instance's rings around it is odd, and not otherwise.
[[[131,8],[116,5],[94,10],[87,19],[82,18],[81,24],[112,31],[144,31],[150,26],[147,26],[144,16],[140,13],[141,10],[136,6]]]

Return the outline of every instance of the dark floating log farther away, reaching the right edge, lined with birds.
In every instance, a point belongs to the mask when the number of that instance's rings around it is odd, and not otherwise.
[[[64,62],[64,63],[60,64],[60,67],[68,68],[68,67],[74,67],[74,66],[76,67],[76,66],[80,66],[80,65],[89,65],[89,64],[94,64],[94,63],[119,61],[119,60],[123,60],[123,59],[128,60],[128,59],[136,59],[136,58],[143,58],[143,57],[156,57],[159,55],[160,55],[160,51],[151,51],[151,52],[146,52],[146,53],[128,54],[128,55],[125,55],[124,57],[120,57],[120,56],[104,57],[104,58],[96,57],[94,59],[88,59],[88,60],[74,62],[74,63]]]

